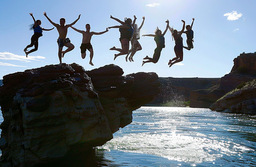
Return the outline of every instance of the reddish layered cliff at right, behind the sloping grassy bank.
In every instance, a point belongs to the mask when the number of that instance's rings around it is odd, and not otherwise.
[[[223,95],[234,90],[241,82],[253,79],[256,79],[256,54],[240,54],[234,59],[231,72],[221,77],[219,85],[190,92],[190,107],[209,108]]]

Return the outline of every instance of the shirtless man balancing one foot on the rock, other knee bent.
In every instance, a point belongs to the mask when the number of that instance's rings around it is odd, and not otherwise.
[[[66,38],[67,33],[68,33],[68,27],[71,27],[72,25],[74,25],[80,18],[81,14],[79,14],[78,19],[75,20],[73,23],[65,25],[66,20],[65,18],[60,18],[60,25],[57,23],[54,23],[53,21],[51,21],[51,19],[48,18],[48,16],[46,15],[46,12],[44,12],[44,16],[46,16],[46,18],[49,20],[49,22],[54,25],[58,32],[59,32],[59,38],[57,40],[58,46],[59,46],[59,52],[58,52],[58,56],[60,59],[60,64],[62,63],[62,57],[64,57],[64,54],[73,50],[75,48],[75,46],[70,43],[69,38]],[[63,47],[68,47],[65,51],[62,51]]]

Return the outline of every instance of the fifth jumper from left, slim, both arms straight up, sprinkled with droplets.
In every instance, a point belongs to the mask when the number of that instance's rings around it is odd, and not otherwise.
[[[132,27],[133,27],[133,29],[134,29],[134,32],[133,32],[133,36],[132,36],[132,39],[131,39],[131,45],[132,45],[132,48],[128,51],[128,54],[127,54],[127,56],[125,57],[125,60],[127,61],[127,58],[128,58],[128,56],[129,56],[129,54],[131,54],[130,55],[130,57],[129,57],[129,61],[133,61],[133,56],[134,56],[134,54],[138,51],[138,50],[142,50],[142,47],[141,47],[141,44],[139,43],[139,38],[140,38],[140,30],[141,30],[141,28],[142,28],[142,26],[143,26],[143,24],[144,24],[144,20],[145,20],[145,17],[143,16],[142,18],[143,18],[143,21],[142,21],[142,23],[141,23],[141,26],[138,28],[138,25],[137,24],[135,24],[135,21],[136,21],[136,16],[134,15],[133,16],[134,17],[134,20],[133,20],[133,23],[132,23]]]

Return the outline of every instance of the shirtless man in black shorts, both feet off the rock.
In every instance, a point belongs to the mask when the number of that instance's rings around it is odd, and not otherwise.
[[[86,49],[89,50],[90,51],[90,63],[89,64],[94,66],[93,63],[91,62],[92,57],[93,57],[93,48],[91,46],[91,36],[104,34],[105,32],[108,32],[108,28],[106,29],[106,31],[102,31],[102,32],[90,32],[90,29],[91,29],[90,24],[85,25],[86,31],[78,30],[72,26],[71,26],[71,28],[73,30],[83,34],[82,44],[80,46],[82,59],[84,59],[86,56]]]

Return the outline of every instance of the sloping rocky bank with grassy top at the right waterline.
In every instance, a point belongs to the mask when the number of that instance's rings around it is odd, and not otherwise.
[[[225,113],[256,114],[256,80],[246,84],[240,90],[227,93],[210,106],[211,110]]]

